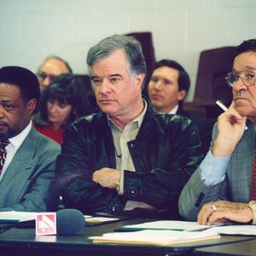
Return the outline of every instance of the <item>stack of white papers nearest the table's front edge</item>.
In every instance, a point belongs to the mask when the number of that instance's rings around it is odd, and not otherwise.
[[[155,246],[170,246],[173,244],[218,239],[217,232],[175,230],[141,230],[132,232],[114,232],[103,236],[90,236],[95,243],[125,243],[125,244],[147,244]]]

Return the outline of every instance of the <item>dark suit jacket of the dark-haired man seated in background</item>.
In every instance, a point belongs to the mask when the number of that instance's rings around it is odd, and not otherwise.
[[[201,137],[202,153],[206,155],[209,151],[210,143],[212,140],[212,128],[214,121],[195,116],[194,114],[184,111],[181,107],[177,108],[177,114],[188,117],[195,123]]]

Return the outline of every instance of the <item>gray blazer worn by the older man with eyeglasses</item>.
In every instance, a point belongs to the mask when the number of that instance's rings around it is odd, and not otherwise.
[[[255,131],[253,124],[247,123],[247,126],[247,131],[244,132],[230,158],[224,182],[207,187],[201,181],[200,166],[189,178],[178,202],[179,212],[183,218],[196,220],[201,207],[210,201],[250,201]],[[215,141],[217,135],[217,125],[215,125],[212,132],[212,142]]]

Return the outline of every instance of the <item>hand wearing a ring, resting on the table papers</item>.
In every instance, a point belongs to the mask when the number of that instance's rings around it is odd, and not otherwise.
[[[253,211],[246,203],[215,201],[205,204],[197,216],[198,224],[211,225],[229,220],[247,223],[253,219]]]

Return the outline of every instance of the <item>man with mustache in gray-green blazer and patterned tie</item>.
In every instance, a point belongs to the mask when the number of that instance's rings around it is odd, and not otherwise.
[[[60,146],[32,126],[39,96],[31,71],[0,68],[0,212],[55,210],[52,182]]]

